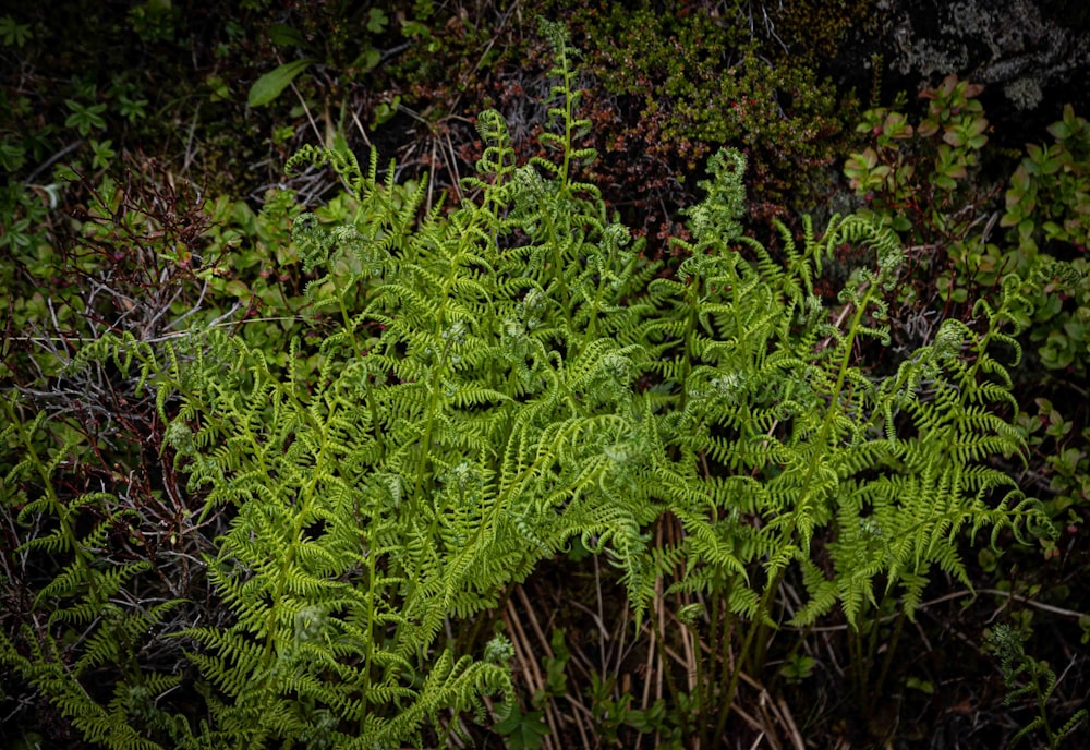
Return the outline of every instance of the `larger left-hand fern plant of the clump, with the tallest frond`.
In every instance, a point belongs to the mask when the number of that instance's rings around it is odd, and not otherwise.
[[[555,114],[567,158],[570,109]],[[419,219],[423,184],[391,201],[374,156],[366,172],[346,153],[292,160],[328,162],[359,205],[351,226],[295,221],[318,275],[312,307],[340,322],[313,379],[295,372],[304,344],[278,367],[216,329],[81,353],[77,366],[138,366],[190,491],[205,516],[230,518],[206,564],[232,622],[172,633],[190,644],[207,718],[167,723],[169,743],[374,747],[420,742],[425,723],[456,731],[440,713],[481,717],[510,684],[501,641],[493,661],[443,649],[447,618],[494,606],[572,535],[642,542],[653,516],[615,501],[645,426],[628,409],[639,348],[613,336],[623,315],[606,315],[639,286],[627,232],[568,167],[514,170],[498,116],[481,130],[483,198],[441,219]],[[525,243],[502,246],[516,233]],[[368,303],[351,309],[361,289]]]

